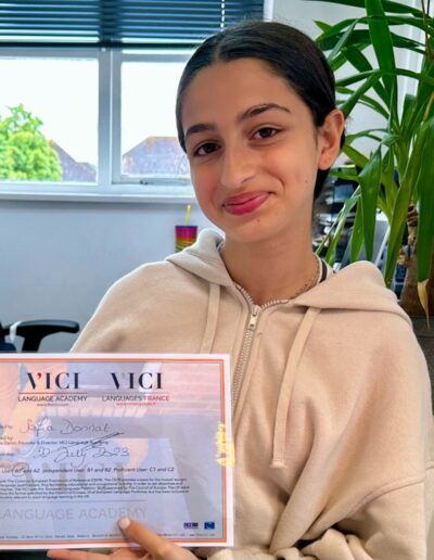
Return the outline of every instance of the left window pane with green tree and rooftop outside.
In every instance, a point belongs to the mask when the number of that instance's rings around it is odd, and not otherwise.
[[[0,59],[2,182],[97,181],[98,61],[73,56]]]

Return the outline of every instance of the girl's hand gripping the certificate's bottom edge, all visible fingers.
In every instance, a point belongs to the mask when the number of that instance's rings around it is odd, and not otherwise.
[[[47,556],[56,560],[107,560],[107,558],[115,560],[151,560],[153,558],[155,560],[197,560],[187,548],[174,545],[167,538],[152,533],[138,521],[123,518],[119,521],[119,527],[126,537],[135,540],[142,549],[118,548],[108,556],[82,550],[49,550]]]

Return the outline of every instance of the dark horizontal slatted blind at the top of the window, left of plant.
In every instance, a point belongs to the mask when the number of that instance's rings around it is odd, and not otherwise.
[[[0,46],[196,44],[263,10],[263,0],[0,1]]]

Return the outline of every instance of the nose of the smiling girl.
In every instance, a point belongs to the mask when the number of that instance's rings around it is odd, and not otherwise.
[[[220,162],[220,183],[227,189],[239,189],[255,174],[254,154],[246,147],[226,145]]]

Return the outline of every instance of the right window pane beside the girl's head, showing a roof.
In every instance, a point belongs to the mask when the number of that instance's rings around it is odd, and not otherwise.
[[[116,61],[117,62],[117,61]],[[175,102],[186,56],[123,56],[120,64],[120,181],[143,177],[186,182],[189,168],[178,144]],[[156,111],[157,109],[157,111]]]

